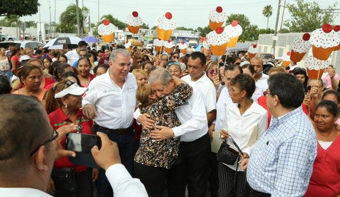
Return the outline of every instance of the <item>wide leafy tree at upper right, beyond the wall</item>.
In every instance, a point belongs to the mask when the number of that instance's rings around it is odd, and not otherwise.
[[[296,5],[287,4],[291,16],[290,19],[285,21],[284,25],[293,32],[311,32],[319,29],[325,23],[334,22],[336,15],[332,12],[337,5],[337,2],[335,2],[326,9],[322,9],[316,1],[296,0]]]

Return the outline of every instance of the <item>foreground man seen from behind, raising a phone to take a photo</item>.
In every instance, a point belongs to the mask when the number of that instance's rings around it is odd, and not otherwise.
[[[32,97],[6,94],[0,102],[5,104],[0,105],[0,197],[52,197],[45,191],[54,160],[75,156],[75,152],[62,150],[60,142],[66,134],[77,131],[77,126],[53,131],[45,109]],[[92,155],[106,170],[115,197],[148,197],[143,184],[120,164],[117,144],[105,134],[98,136],[102,148],[93,147]]]

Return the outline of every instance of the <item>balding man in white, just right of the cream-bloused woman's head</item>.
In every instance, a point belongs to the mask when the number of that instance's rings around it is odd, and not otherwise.
[[[266,91],[268,89],[268,83],[267,80],[269,78],[268,75],[263,74],[263,61],[259,57],[252,58],[250,60],[250,64],[254,66],[255,68],[255,85],[259,88],[261,88],[263,91]]]

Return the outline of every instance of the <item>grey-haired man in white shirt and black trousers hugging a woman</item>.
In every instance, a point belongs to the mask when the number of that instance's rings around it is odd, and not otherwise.
[[[167,77],[169,76],[169,77]],[[174,89],[172,76],[166,69],[158,68],[150,73],[149,83],[158,98],[170,94]],[[193,93],[187,103],[175,110],[182,125],[178,127],[155,126],[159,130],[152,131],[151,135],[156,141],[181,136],[180,152],[182,160],[174,165],[169,172],[169,197],[183,197],[186,184],[189,197],[205,197],[206,182],[208,180],[210,138],[207,133],[208,124],[204,103],[204,95],[199,87],[190,84]],[[148,127],[151,120],[146,114],[140,115],[137,120]]]

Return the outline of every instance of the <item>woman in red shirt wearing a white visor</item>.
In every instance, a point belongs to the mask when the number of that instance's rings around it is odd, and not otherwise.
[[[67,79],[58,82],[58,84],[49,91],[49,94],[51,94],[49,97],[54,97],[55,99],[51,99],[48,102],[57,102],[60,105],[58,109],[49,114],[51,126],[54,130],[63,125],[73,123],[78,125],[78,132],[80,125],[82,125],[81,132],[83,134],[93,134],[93,121],[84,116],[80,109],[83,100],[82,94],[85,91],[86,88],[81,88],[77,83]],[[61,145],[64,149],[65,142],[66,138],[62,139]],[[67,157],[62,157],[54,162],[54,169],[57,168],[71,168],[75,170],[76,197],[92,197],[92,182],[98,178],[98,169],[74,165],[68,161]],[[53,181],[56,182],[56,180]],[[74,195],[65,191],[63,188],[58,188],[58,184],[55,184],[55,190],[55,197]]]

